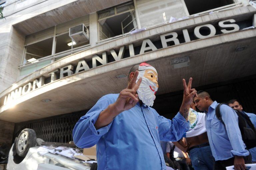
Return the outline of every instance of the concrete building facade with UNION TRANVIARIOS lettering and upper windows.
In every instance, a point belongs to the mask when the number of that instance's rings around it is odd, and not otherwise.
[[[236,97],[256,111],[256,9],[247,0],[0,5],[0,126],[14,129],[8,143],[23,127],[45,140],[72,140],[77,118],[101,96],[125,88],[130,68],[145,61],[158,71],[155,108],[166,117],[177,111],[181,80],[189,77],[218,101]]]

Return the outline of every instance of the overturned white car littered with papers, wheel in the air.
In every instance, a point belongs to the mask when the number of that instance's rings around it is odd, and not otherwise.
[[[12,145],[8,170],[97,170],[97,163],[74,144],[44,142],[32,129],[23,129]]]

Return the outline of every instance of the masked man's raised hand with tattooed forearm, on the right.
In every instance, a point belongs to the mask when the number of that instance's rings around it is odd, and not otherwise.
[[[186,120],[188,120],[189,106],[190,106],[190,103],[193,101],[194,96],[197,95],[196,93],[197,91],[194,88],[191,89],[192,78],[189,79],[188,85],[186,84],[185,79],[183,79],[182,82],[183,82],[184,92],[183,92],[182,104],[180,107],[180,114]]]

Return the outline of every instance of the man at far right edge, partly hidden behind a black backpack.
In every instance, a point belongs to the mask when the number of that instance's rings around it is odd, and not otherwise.
[[[243,111],[243,107],[240,104],[240,102],[237,99],[232,99],[229,100],[227,102],[227,104],[233,108],[233,109],[237,109],[239,111],[244,112],[245,114],[247,114],[252,122],[252,124],[254,125],[254,127],[256,128],[256,115],[253,113],[247,113],[245,111]],[[250,153],[252,154],[252,163],[256,163],[256,147],[249,149]]]

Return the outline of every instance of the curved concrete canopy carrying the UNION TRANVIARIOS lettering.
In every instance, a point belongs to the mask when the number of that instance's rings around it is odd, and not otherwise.
[[[234,12],[232,13],[234,14]],[[248,13],[252,15],[252,13]],[[141,33],[112,40],[96,47],[56,61],[39,71],[16,82],[0,93],[1,99],[17,87],[33,81],[40,76],[49,76],[48,73],[67,64],[76,64],[80,59],[89,59],[120,46],[139,43],[143,39],[152,41],[166,32],[182,30],[193,25],[222,20],[230,16],[216,15],[192,18],[172,24],[152,28]],[[245,17],[245,16],[242,16]],[[208,19],[208,20],[207,20]],[[203,22],[202,22],[203,20]],[[188,23],[193,24],[188,26]],[[28,94],[22,95],[13,108],[4,105],[0,108],[0,119],[10,122],[22,122],[84,110],[92,107],[104,94],[119,93],[127,86],[127,79],[117,79],[117,75],[128,74],[131,66],[144,61],[153,65],[159,74],[159,90],[157,94],[173,92],[182,89],[182,78],[193,77],[193,86],[202,86],[223,82],[240,77],[256,74],[256,29],[240,30],[228,34],[220,34],[207,39],[198,39],[191,42],[158,49],[134,57],[128,57],[106,65],[98,66],[87,71],[56,80],[39,87]],[[243,51],[235,52],[237,47],[247,46]],[[180,69],[171,68],[171,59],[188,56],[190,64]],[[44,99],[50,99],[44,102]]]

